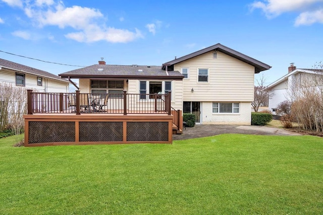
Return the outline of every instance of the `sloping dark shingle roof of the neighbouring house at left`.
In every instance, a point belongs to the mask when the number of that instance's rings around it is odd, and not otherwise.
[[[62,82],[69,82],[67,80],[62,79],[59,76],[53,75],[51,73],[48,73],[47,71],[43,71],[37,68],[33,68],[30,66],[26,66],[20,63],[15,63],[9,60],[5,60],[0,58],[0,66],[7,68],[7,69],[12,69],[15,71],[20,71],[21,73],[28,73],[28,74],[32,74],[32,75],[36,75],[39,77],[45,77],[45,78],[49,78],[49,79],[56,79],[58,81],[62,81]]]

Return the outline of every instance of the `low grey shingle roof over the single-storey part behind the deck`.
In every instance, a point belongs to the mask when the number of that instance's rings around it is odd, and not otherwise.
[[[139,71],[142,70],[142,71]],[[122,78],[122,79],[171,79],[182,80],[184,76],[179,71],[166,71],[160,66],[147,65],[106,65],[94,64],[59,74],[62,78]]]

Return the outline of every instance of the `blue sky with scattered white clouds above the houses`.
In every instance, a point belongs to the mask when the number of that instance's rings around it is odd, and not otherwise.
[[[323,0],[0,0],[0,51],[72,64],[161,65],[221,43],[272,66],[270,84],[294,62],[323,61]],[[60,74],[79,67],[0,52]],[[256,76],[257,78],[257,76]]]

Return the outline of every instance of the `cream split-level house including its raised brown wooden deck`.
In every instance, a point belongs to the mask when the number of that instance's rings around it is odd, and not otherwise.
[[[48,101],[28,92],[25,146],[170,144],[172,133],[182,132],[183,112],[195,114],[196,123],[250,125],[254,75],[270,68],[220,43],[161,66],[101,59],[59,75],[76,93]]]

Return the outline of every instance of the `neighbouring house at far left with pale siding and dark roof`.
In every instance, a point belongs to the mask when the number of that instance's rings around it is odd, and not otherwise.
[[[0,58],[0,83],[44,93],[68,93],[69,81],[40,69]]]

